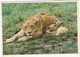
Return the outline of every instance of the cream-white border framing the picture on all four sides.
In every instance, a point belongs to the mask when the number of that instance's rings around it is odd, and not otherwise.
[[[26,1],[26,2],[33,2],[33,1]],[[8,2],[5,2],[5,1],[2,1],[1,3],[26,3],[26,2],[18,2],[18,0],[17,0],[17,2],[16,1],[8,1]],[[80,1],[49,1],[49,0],[47,0],[47,1],[34,1],[34,2],[78,2],[78,5],[77,5],[77,14],[78,14],[78,53],[80,54],[80,46],[79,46],[79,44],[80,44],[80,25],[79,25],[79,23],[80,23],[80,4],[79,4],[79,2]],[[3,50],[2,50],[2,10],[1,10],[1,3],[0,3],[0,54],[3,54]],[[48,56],[50,56],[50,57],[68,57],[68,56],[72,56],[72,57],[78,57],[78,54],[39,54],[39,55],[3,55],[3,57],[35,57],[35,56],[37,56],[37,57],[42,57],[42,56],[44,56],[44,57],[48,57]],[[2,57],[2,56],[0,56],[0,57]]]

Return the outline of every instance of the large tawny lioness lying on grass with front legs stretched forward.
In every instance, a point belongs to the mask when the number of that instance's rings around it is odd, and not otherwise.
[[[47,26],[50,24],[59,25],[60,23],[61,21],[52,14],[38,13],[29,17],[24,24],[20,24],[22,26],[21,31],[10,39],[7,39],[6,43],[13,42],[15,39],[18,39],[18,41],[26,41],[29,38],[38,38],[45,32]]]

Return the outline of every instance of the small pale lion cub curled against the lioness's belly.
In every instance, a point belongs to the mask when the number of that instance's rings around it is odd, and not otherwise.
[[[68,29],[66,27],[58,27],[57,29],[55,29],[55,26],[54,24],[51,24],[50,26],[47,27],[46,29],[46,33],[48,34],[52,34],[54,36],[59,36],[61,34],[64,34],[66,32],[68,32]]]

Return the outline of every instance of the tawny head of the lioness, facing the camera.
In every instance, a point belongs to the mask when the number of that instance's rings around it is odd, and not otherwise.
[[[22,28],[28,38],[33,38],[34,34],[40,29],[41,26],[41,17],[40,16],[33,16],[30,17],[23,25]]]

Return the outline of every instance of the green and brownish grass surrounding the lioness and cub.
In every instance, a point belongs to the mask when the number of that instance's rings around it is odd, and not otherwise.
[[[12,37],[28,17],[39,12],[55,14],[68,28],[68,33],[61,36],[44,35],[42,39],[27,42],[6,44],[5,40]],[[77,3],[9,3],[2,4],[3,54],[65,54],[78,53],[77,49]]]

